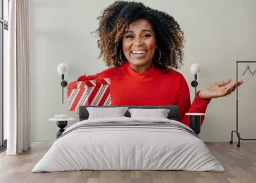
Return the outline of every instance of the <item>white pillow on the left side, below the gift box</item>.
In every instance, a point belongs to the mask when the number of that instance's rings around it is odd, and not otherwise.
[[[128,107],[86,107],[89,117],[95,118],[118,118],[125,117],[124,114]]]

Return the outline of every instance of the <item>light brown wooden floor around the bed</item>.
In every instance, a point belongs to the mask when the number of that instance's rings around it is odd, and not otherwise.
[[[0,154],[0,182],[256,182],[256,143],[206,143],[225,172],[195,171],[64,171],[31,173],[52,143],[32,143],[32,148],[22,155]]]

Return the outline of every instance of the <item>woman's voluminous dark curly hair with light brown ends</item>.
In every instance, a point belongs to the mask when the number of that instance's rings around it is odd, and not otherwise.
[[[122,38],[129,24],[138,19],[150,22],[156,36],[157,47],[161,50],[161,60],[153,59],[152,63],[158,68],[163,68],[165,72],[168,68],[177,69],[183,65],[184,34],[179,24],[167,13],[149,8],[142,3],[115,1],[97,19],[99,28],[95,33],[99,35],[99,58],[103,56],[106,66],[118,68],[126,61],[120,59]]]

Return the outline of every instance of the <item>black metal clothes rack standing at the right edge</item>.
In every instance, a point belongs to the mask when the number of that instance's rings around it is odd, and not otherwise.
[[[238,63],[256,63],[256,61],[236,61],[236,83],[238,82]],[[236,131],[231,132],[231,140],[230,143],[233,143],[233,133],[236,133],[238,138],[237,147],[240,147],[240,140],[256,140],[256,139],[246,139],[241,138],[240,133],[238,132],[238,87],[236,87]]]

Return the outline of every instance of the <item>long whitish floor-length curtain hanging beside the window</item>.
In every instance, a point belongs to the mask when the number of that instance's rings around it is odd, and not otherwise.
[[[10,0],[6,63],[7,155],[30,148],[30,11],[29,0]]]

